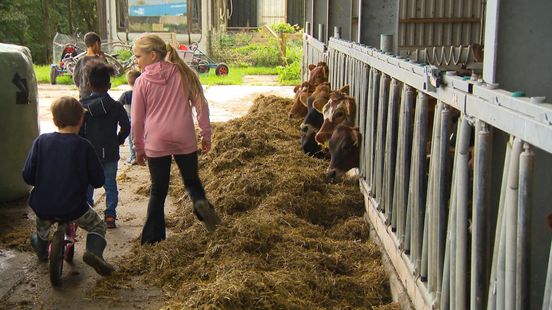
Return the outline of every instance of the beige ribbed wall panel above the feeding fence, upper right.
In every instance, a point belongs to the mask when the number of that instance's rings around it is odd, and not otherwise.
[[[484,0],[401,0],[399,48],[482,43]]]

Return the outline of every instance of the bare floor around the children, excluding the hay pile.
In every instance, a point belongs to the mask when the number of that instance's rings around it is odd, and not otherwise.
[[[128,87],[111,90],[117,99]],[[39,118],[41,132],[55,131],[49,106],[60,96],[78,97],[74,86],[40,84]],[[211,121],[224,122],[243,116],[260,94],[274,94],[282,97],[293,95],[292,87],[280,86],[207,86]],[[105,257],[115,261],[127,254],[141,232],[146,216],[147,189],[149,183],[147,168],[129,166],[128,147],[121,148],[119,161],[119,220],[118,228],[107,232],[109,242]],[[121,179],[121,176],[123,179]],[[132,182],[127,181],[132,180]],[[145,194],[144,194],[145,193]],[[103,189],[96,191],[96,209],[105,210]],[[172,197],[167,197],[166,213],[171,217],[175,206]],[[26,202],[0,203],[0,309],[159,309],[164,304],[160,288],[145,286],[137,277],[126,287],[118,287],[117,298],[94,298],[92,289],[101,278],[82,261],[85,234],[78,231],[76,256],[73,265],[65,264],[63,285],[54,289],[48,279],[48,268],[39,263],[31,252],[28,241],[32,230],[33,212]],[[168,231],[169,237],[171,231]]]

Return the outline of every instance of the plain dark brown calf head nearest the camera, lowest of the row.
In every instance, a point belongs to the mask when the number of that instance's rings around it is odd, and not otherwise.
[[[339,181],[349,170],[358,167],[360,151],[358,128],[340,125],[330,138],[330,166],[326,171],[326,181]]]

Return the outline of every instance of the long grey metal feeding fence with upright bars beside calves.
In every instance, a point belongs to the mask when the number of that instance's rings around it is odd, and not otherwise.
[[[357,43],[303,42],[304,80],[327,61],[332,89],[351,87],[367,216],[415,308],[549,309],[551,106]]]

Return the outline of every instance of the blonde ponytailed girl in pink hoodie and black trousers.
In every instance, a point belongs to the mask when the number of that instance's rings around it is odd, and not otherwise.
[[[165,240],[164,204],[169,189],[171,159],[174,157],[194,214],[208,231],[220,223],[205,198],[198,175],[197,140],[192,107],[197,113],[201,149],[211,148],[209,106],[199,78],[172,46],[154,34],[144,34],[133,46],[142,71],[132,94],[131,128],[136,162],[145,165],[151,176],[148,215],[142,230],[142,244]]]

